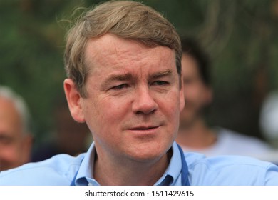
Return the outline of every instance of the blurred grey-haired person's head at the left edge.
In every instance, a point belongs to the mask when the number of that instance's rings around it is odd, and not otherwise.
[[[0,86],[0,171],[30,161],[33,136],[29,110],[21,96]]]

